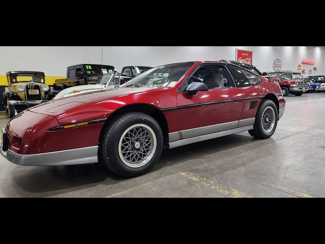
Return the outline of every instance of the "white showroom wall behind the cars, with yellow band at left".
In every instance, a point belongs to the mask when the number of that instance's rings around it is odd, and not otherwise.
[[[188,60],[235,59],[236,48],[253,51],[253,65],[272,71],[276,58],[283,70],[297,71],[303,58],[316,61],[316,74],[325,74],[325,47],[307,46],[181,46],[181,47],[0,47],[0,85],[9,70],[43,71],[47,83],[66,76],[67,67],[80,63],[114,65],[118,71],[127,65],[158,66]],[[307,71],[314,66],[302,65]],[[307,76],[308,74],[306,74]]]

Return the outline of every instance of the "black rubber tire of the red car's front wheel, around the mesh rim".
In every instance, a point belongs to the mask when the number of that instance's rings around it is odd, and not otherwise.
[[[147,163],[141,167],[134,168],[127,166],[125,158],[121,159],[119,154],[119,143],[120,140],[122,141],[122,135],[128,131],[130,127],[137,124],[142,124],[153,131],[154,135],[151,134],[151,139],[155,136],[156,148],[155,151],[150,151],[150,154],[152,152],[153,156],[151,155],[151,159]],[[154,166],[163,150],[164,138],[160,126],[151,116],[145,113],[130,112],[122,114],[110,124],[105,125],[99,142],[99,163],[119,176],[132,177],[144,174]],[[136,145],[133,146],[133,148],[135,148]],[[124,162],[122,160],[124,160]]]

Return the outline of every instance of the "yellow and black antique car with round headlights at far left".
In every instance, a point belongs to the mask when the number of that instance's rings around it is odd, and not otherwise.
[[[39,71],[8,71],[8,85],[3,93],[3,105],[12,118],[26,108],[47,102],[58,93],[45,84],[45,74]]]

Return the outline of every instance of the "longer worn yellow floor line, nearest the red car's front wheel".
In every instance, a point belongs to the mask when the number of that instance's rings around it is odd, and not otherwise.
[[[195,176],[193,175],[193,173],[189,173],[189,172],[180,172],[180,175],[183,176],[187,176],[189,179],[200,183],[201,185],[210,188],[222,195],[225,196],[229,196],[229,197],[251,197],[251,196],[247,196],[246,193],[235,190],[231,187],[225,187],[221,184],[219,184],[218,182],[214,181],[214,180],[210,180],[210,179],[206,179],[203,177],[199,177],[199,176]]]

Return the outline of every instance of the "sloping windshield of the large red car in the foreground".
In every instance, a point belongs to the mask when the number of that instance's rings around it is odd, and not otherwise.
[[[173,87],[193,66],[193,62],[178,63],[152,68],[120,87],[126,86],[170,86]]]

